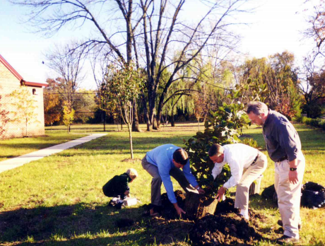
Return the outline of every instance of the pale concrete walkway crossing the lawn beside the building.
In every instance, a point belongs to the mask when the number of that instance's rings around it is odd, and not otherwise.
[[[40,151],[35,151],[32,153],[28,153],[24,156],[19,156],[16,158],[11,158],[8,160],[4,160],[0,162],[0,172],[4,172],[6,170],[11,170],[13,168],[20,167],[20,165],[24,165],[26,163],[30,163],[33,160],[40,160],[45,156],[53,155],[54,153],[59,153],[64,151],[67,148],[72,148],[79,144],[86,143],[88,141],[92,141],[93,139],[98,139],[101,136],[105,136],[106,134],[91,134],[89,136],[84,136],[81,139],[75,139],[73,141],[69,141],[64,144],[58,144],[49,148],[43,148]]]

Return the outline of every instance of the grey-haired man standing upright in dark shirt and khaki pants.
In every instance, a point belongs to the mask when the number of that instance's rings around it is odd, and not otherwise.
[[[284,234],[279,243],[299,242],[300,194],[305,172],[305,157],[300,138],[288,119],[268,110],[263,102],[249,102],[247,115],[254,124],[263,126],[268,156],[275,162],[276,193]]]

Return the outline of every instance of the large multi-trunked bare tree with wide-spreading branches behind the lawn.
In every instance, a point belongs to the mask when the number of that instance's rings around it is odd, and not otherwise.
[[[146,68],[146,91],[141,98],[148,111],[149,129],[159,127],[167,90],[184,78],[179,74],[191,61],[199,54],[209,57],[215,49],[234,49],[238,39],[231,25],[238,23],[232,17],[244,11],[247,1],[196,0],[196,8],[206,13],[195,21],[182,11],[187,0],[11,0],[31,8],[28,23],[37,31],[53,35],[66,25],[80,28],[90,22],[95,27],[93,33],[74,49],[89,54],[98,47],[124,65],[134,60],[137,68]],[[170,78],[158,95],[164,71],[170,71]]]

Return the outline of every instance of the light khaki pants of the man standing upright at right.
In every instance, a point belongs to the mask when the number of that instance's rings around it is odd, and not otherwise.
[[[298,224],[300,223],[300,199],[302,179],[305,172],[305,157],[300,152],[298,159],[298,182],[289,182],[289,161],[276,162],[274,187],[278,194],[278,207],[283,223],[284,235],[299,239]]]

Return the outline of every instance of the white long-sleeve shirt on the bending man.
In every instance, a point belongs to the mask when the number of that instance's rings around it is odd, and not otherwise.
[[[246,144],[226,144],[223,146],[224,158],[222,163],[215,163],[212,170],[213,178],[217,177],[223,170],[225,163],[230,166],[231,177],[223,187],[229,189],[237,185],[242,179],[244,169],[252,165],[259,151]]]

